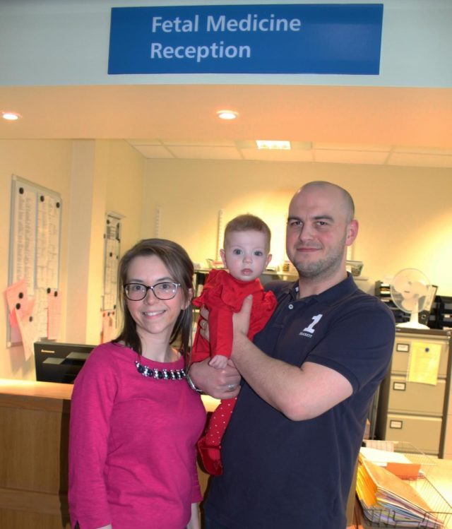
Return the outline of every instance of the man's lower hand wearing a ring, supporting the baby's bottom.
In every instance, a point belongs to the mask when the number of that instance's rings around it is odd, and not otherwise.
[[[215,369],[206,358],[190,366],[190,379],[197,388],[213,398],[237,397],[240,391],[240,375],[232,360],[227,361],[225,369]]]

